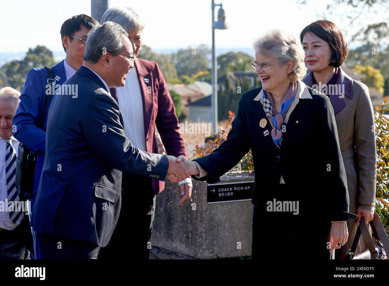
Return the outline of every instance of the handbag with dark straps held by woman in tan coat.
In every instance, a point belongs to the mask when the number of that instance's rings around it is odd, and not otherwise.
[[[384,226],[382,225],[381,219],[376,211],[374,211],[373,220],[369,222],[371,230],[374,233],[375,239],[373,240],[370,236],[366,221],[364,218],[359,222],[357,233],[352,243],[349,253],[345,256],[345,260],[351,259],[387,259],[387,254],[389,253],[389,239],[386,235]],[[361,253],[356,253],[359,239],[363,236],[366,246],[368,249],[362,251]],[[374,245],[374,242],[377,245]]]

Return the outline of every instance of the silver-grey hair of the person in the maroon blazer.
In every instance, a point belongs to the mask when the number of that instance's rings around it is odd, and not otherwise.
[[[112,7],[105,11],[101,22],[112,21],[121,25],[128,33],[142,32],[145,24],[138,13],[130,7]]]

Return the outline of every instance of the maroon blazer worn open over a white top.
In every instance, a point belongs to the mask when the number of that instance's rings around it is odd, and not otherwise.
[[[137,69],[140,93],[142,94],[146,151],[158,153],[154,134],[155,126],[157,126],[166,153],[176,157],[182,155],[187,158],[184,139],[179,133],[180,126],[175,115],[174,104],[158,64],[155,61],[135,58],[134,65]],[[151,89],[148,87],[151,87]],[[116,90],[114,93],[113,97],[116,96]],[[126,174],[123,173],[123,176],[126,176]],[[150,180],[154,193],[161,193],[165,188],[165,182],[158,179]]]

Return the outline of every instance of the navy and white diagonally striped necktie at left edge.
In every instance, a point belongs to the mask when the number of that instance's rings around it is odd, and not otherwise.
[[[16,152],[12,147],[11,140],[6,140],[5,143],[5,177],[7,180],[8,202],[20,201],[18,192],[16,191]],[[23,211],[18,212],[14,204],[14,208],[9,212],[11,220],[19,224],[24,217]]]

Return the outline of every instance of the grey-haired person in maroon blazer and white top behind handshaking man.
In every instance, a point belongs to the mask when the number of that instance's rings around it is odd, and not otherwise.
[[[128,32],[135,56],[142,46],[144,23],[131,8],[108,9],[102,23],[113,21]],[[123,115],[124,132],[138,149],[158,153],[155,128],[161,135],[166,153],[187,158],[186,148],[175,108],[158,64],[135,58],[134,68],[127,74],[123,88],[111,88]],[[192,182],[179,182],[184,204],[191,197]],[[122,208],[119,221],[109,244],[100,249],[99,259],[148,259],[151,249],[151,230],[154,222],[155,195],[163,191],[165,183],[158,178],[144,178],[123,173]]]

